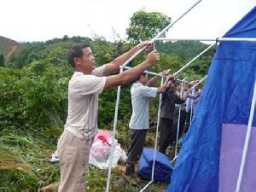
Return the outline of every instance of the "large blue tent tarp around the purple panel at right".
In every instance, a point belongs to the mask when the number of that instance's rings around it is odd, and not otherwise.
[[[256,7],[224,37],[256,38]],[[223,148],[222,128],[224,124],[227,124],[226,129],[234,128],[232,125],[237,125],[236,129],[247,125],[255,73],[255,43],[222,42],[218,45],[195,116],[172,172],[172,182],[166,191],[221,191],[219,164],[220,150]],[[256,125],[255,116],[253,126]],[[251,169],[256,170],[256,167]],[[255,183],[256,178],[253,179]],[[245,183],[242,183],[244,186]]]

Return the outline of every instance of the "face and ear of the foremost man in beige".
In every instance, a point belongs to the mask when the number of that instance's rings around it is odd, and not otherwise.
[[[96,61],[92,55],[90,47],[82,49],[83,56],[81,58],[75,58],[77,66],[81,67],[83,72],[91,73],[96,68]]]

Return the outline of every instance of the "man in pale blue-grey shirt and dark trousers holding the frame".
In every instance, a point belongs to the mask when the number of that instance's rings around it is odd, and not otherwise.
[[[160,74],[166,74],[166,71]],[[129,123],[131,140],[126,160],[125,175],[123,175],[129,183],[135,184],[140,180],[135,173],[134,166],[143,153],[146,134],[149,129],[148,99],[156,97],[157,93],[164,92],[166,84],[171,78],[172,76],[168,76],[166,83],[159,88],[150,87],[150,85],[153,85],[160,79],[160,76],[155,76],[148,81],[148,75],[143,73],[138,77],[137,82],[131,85],[132,113]]]

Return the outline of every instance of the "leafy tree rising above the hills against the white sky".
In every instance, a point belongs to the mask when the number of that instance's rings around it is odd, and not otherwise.
[[[148,13],[143,9],[132,15],[131,23],[126,29],[126,33],[128,39],[137,44],[143,40],[153,38],[170,23],[170,17],[158,12]]]

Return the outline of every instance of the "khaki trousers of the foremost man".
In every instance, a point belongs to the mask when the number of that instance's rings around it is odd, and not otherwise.
[[[82,140],[69,131],[62,133],[57,145],[61,169],[59,192],[84,192],[92,142],[93,138]]]

